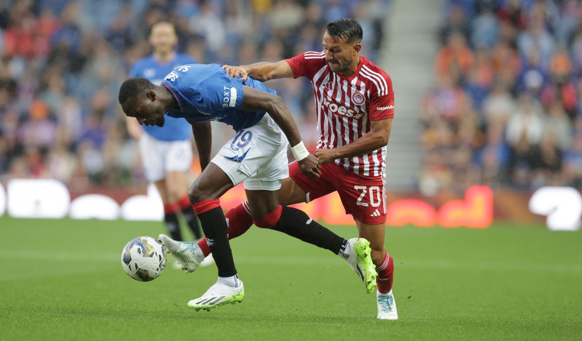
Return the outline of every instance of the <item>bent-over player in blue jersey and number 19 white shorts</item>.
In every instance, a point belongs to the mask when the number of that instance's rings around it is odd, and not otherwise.
[[[274,90],[250,78],[245,82],[230,78],[218,64],[189,64],[174,69],[161,86],[145,78],[126,80],[119,89],[119,103],[140,124],[164,126],[166,116],[186,118],[197,140],[210,140],[210,120],[232,125],[237,132],[210,163],[203,163],[210,159],[210,147],[197,143],[204,171],[191,186],[189,199],[217,263],[218,280],[203,296],[191,300],[190,308],[210,310],[244,297],[228,241],[228,222],[219,202],[240,182],[256,226],[309,240],[345,256],[362,280],[375,284],[369,242],[350,243],[301,210],[279,205],[282,179],[289,176],[289,143],[301,173],[313,178],[321,173],[317,158],[307,152],[289,109]],[[195,243],[177,242],[165,235],[159,239],[187,268],[195,268],[201,261]]]

